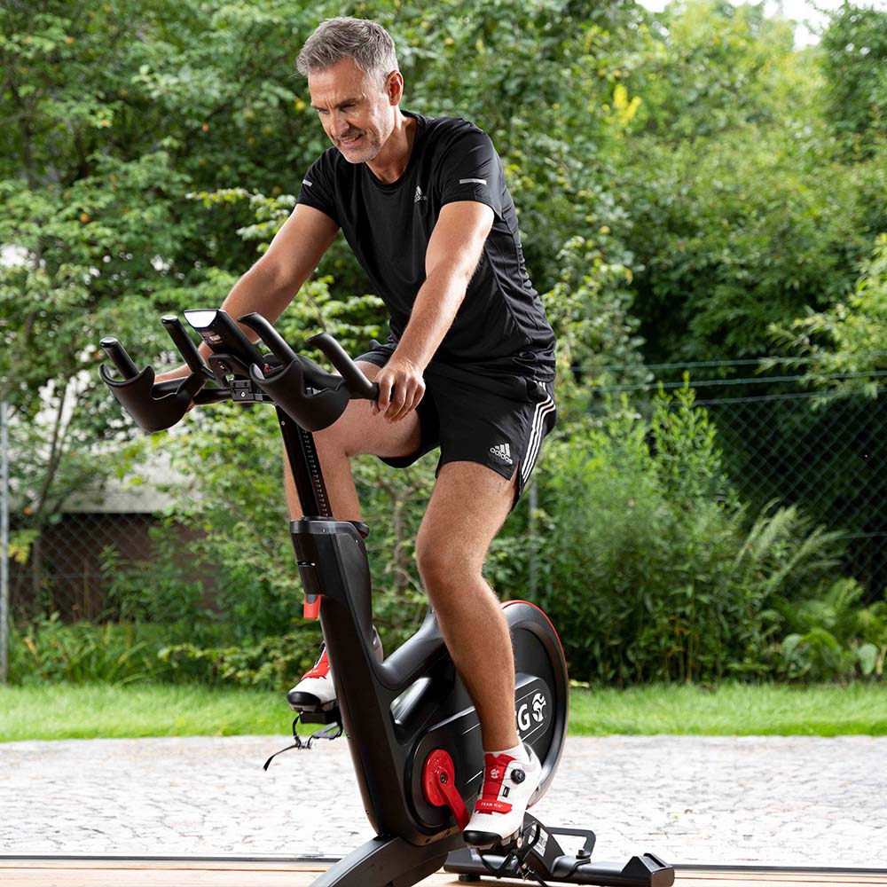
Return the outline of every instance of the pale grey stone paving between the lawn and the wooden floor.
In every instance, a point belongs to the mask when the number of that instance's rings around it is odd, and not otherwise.
[[[334,856],[372,836],[344,739],[0,745],[0,854]],[[594,856],[887,869],[887,738],[571,738],[534,808]],[[576,849],[564,839],[565,849]]]

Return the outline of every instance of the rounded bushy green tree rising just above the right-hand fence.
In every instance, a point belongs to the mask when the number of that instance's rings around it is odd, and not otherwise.
[[[645,165],[627,187],[648,359],[760,357],[773,323],[852,287],[871,237],[862,171],[829,161],[803,127],[648,141]]]

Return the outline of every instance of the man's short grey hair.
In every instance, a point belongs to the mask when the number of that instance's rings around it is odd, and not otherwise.
[[[339,18],[322,21],[310,35],[295,66],[307,77],[341,59],[354,63],[381,84],[397,68],[394,41],[388,31],[369,19]]]

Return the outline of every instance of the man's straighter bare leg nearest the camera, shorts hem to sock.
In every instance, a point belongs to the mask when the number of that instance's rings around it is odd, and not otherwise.
[[[509,481],[475,462],[447,463],[416,538],[422,582],[475,703],[486,751],[518,744],[511,634],[482,575],[490,543],[511,510],[515,482],[516,473]]]

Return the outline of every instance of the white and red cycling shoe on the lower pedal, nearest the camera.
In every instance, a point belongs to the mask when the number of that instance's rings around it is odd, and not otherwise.
[[[529,760],[506,752],[483,756],[483,789],[475,803],[462,838],[470,847],[484,849],[506,844],[520,832],[530,797],[542,781],[542,765],[529,745],[523,750]]]

